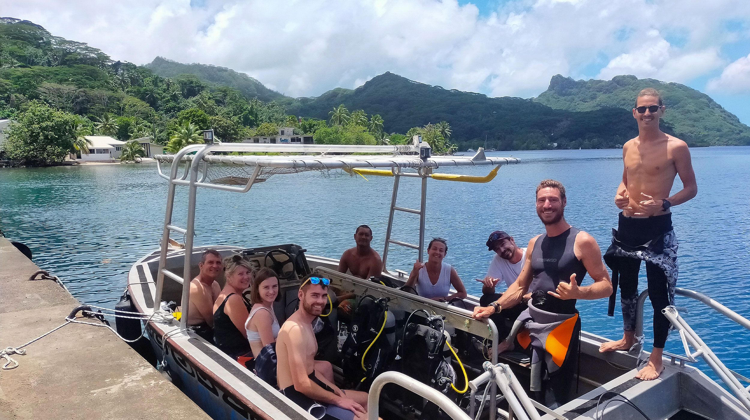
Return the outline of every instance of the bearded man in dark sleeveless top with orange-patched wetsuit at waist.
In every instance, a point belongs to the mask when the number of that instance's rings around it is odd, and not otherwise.
[[[517,318],[511,334],[500,345],[499,351],[512,345],[516,337],[515,333],[519,331],[520,326],[526,326],[531,333],[529,321],[533,321],[536,326],[546,324],[554,327],[572,319],[574,327],[565,333],[565,340],[568,341],[568,350],[562,355],[565,362],[557,365],[559,371],[556,372],[559,374],[555,375],[554,380],[548,381],[549,389],[559,404],[571,398],[571,390],[574,389],[571,384],[574,384],[578,351],[577,332],[580,331],[580,320],[577,318],[575,308],[576,300],[601,299],[612,293],[609,273],[601,261],[601,251],[596,240],[565,221],[566,204],[565,187],[559,181],[553,179],[541,181],[536,187],[536,214],[541,223],[544,223],[545,233],[529,241],[523,269],[517,280],[489,306],[474,308],[473,314],[475,319],[481,320],[506,311],[508,308],[526,304],[528,308]],[[580,286],[586,272],[589,273],[594,283],[589,286]],[[555,320],[552,322],[551,318]],[[547,334],[551,335],[550,332],[541,332],[541,334],[545,335],[544,337]],[[545,341],[536,339],[536,342],[544,343]],[[532,341],[532,346],[534,343]],[[537,363],[541,365],[543,360],[539,357],[532,358],[532,377],[535,375],[534,365]],[[547,364],[550,378],[553,369],[555,368]],[[541,378],[541,375],[538,377]],[[532,380],[531,391],[542,391],[535,387]],[[537,394],[535,398],[543,401],[542,398],[546,397]]]

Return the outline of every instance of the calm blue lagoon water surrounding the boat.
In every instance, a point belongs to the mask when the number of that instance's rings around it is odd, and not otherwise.
[[[699,193],[673,211],[680,243],[678,286],[706,293],[750,317],[750,147],[691,152]],[[505,230],[525,245],[543,231],[534,207],[541,179],[565,184],[566,219],[591,233],[602,250],[616,226],[613,195],[622,174],[621,151],[509,153],[523,163],[503,166],[490,184],[429,183],[428,238],[449,240],[446,261],[456,267],[470,293],[480,293],[474,279],[484,277],[492,257],[484,246],[490,232]],[[458,170],[479,175],[489,169]],[[419,181],[401,182],[399,204],[419,205]],[[680,187],[677,181],[675,189]],[[356,226],[367,223],[374,230],[374,247],[382,251],[391,189],[391,178],[365,181],[343,172],[327,177],[309,172],[277,175],[247,194],[202,190],[195,243],[251,247],[294,242],[310,254],[338,257],[353,245]],[[0,169],[0,228],[7,238],[26,243],[35,263],[62,278],[78,299],[114,305],[132,263],[157,248],[165,196],[166,181],[157,176],[155,165]],[[178,196],[175,224],[184,225],[179,220],[184,220],[186,198]],[[399,216],[395,239],[416,242],[417,220],[413,214]],[[389,267],[408,271],[416,251],[397,248]],[[641,290],[645,283],[643,278]],[[677,297],[677,305],[690,305],[684,315],[688,323],[730,368],[750,375],[746,330],[688,299]],[[622,317],[606,317],[606,299],[579,302],[578,307],[584,329],[610,338],[622,335]],[[648,307],[649,347],[650,312]],[[671,335],[667,350],[680,349],[679,338]]]

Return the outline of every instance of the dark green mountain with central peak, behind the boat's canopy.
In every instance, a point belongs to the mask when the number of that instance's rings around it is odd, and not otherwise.
[[[610,148],[637,135],[630,113],[617,108],[586,112],[553,110],[521,98],[446,90],[392,73],[381,74],[357,89],[334,89],[317,98],[299,98],[287,112],[329,118],[344,104],[349,110],[380,114],[386,131],[449,121],[451,141],[462,148],[484,145],[502,150],[521,148]]]

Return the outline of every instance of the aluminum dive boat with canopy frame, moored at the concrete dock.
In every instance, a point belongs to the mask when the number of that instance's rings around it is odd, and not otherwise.
[[[281,155],[227,155],[271,151]],[[667,308],[667,317],[679,332],[686,353],[684,356],[664,353],[664,373],[658,380],[635,379],[639,363],[648,357],[641,347],[629,352],[599,353],[599,345],[608,340],[583,331],[579,371],[571,384],[574,398],[547,407],[527,395],[529,366],[523,354],[498,354],[496,326],[491,320],[472,319],[477,296],[469,295],[463,304],[456,306],[402,290],[407,272],[390,268],[388,255],[390,248],[401,246],[418,251],[422,260],[428,180],[434,180],[434,184],[489,182],[500,166],[517,163],[514,157],[487,157],[482,148],[472,156],[431,156],[429,145],[415,138],[411,145],[389,146],[213,143],[190,145],[177,154],[157,155],[155,159],[159,174],[169,182],[163,237],[160,248],[140,258],[128,272],[127,292],[134,310],[148,317],[143,324],[160,368],[214,419],[312,420],[315,417],[187,328],[190,279],[198,274],[200,254],[209,248],[216,249],[223,257],[241,254],[257,267],[271,266],[280,273],[280,298],[274,308],[280,323],[295,311],[302,278],[311,274],[330,278],[332,286],[339,290],[353,292],[360,299],[371,296],[386,306],[385,311],[395,319],[396,332],[380,340],[395,350],[379,353],[377,362],[368,359],[367,365],[366,355],[362,356],[361,371],[353,371],[351,364],[347,365],[347,356],[335,345],[347,322],[353,321],[337,319],[335,308],[326,308],[332,316],[321,318],[325,328],[317,336],[320,359],[334,365],[337,385],[344,388],[365,384],[363,390],[370,392],[370,419],[750,419],[750,394],[746,388],[750,381],[727,369],[673,307]],[[434,172],[438,168],[463,166],[494,168],[486,176]],[[193,245],[199,190],[248,193],[254,184],[267,181],[272,175],[331,170],[394,178],[380,281],[337,272],[338,260],[307,255],[304,243],[226,245],[217,238],[212,244]],[[397,205],[402,177],[421,179],[420,208]],[[188,192],[184,226],[172,220],[175,190],[179,187],[186,187]],[[394,215],[398,211],[419,215],[417,244],[392,237]],[[175,242],[172,235],[184,237],[184,244]],[[750,321],[700,293],[678,289],[677,294],[692,299],[690,302],[709,305],[718,314],[750,329]],[[638,335],[643,330],[645,298],[646,292],[639,299]],[[161,305],[169,301],[181,306],[181,320],[176,320],[169,308]],[[398,350],[403,344],[401,331],[410,320],[416,319],[442,329],[446,342],[440,348],[440,358],[452,367],[455,373],[452,377],[420,380],[408,374],[408,366],[404,368],[404,363],[395,360],[406,357],[403,350],[401,353]],[[489,354],[478,352],[476,343],[490,344]],[[721,383],[694,365],[698,358],[705,359]]]

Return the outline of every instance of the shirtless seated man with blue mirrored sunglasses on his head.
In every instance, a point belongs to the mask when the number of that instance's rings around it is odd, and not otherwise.
[[[276,340],[281,392],[305,410],[326,406],[323,420],[367,419],[367,392],[342,391],[315,369],[318,344],[312,323],[328,303],[329,279],[309,278],[299,288],[299,309],[281,327]]]

